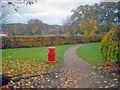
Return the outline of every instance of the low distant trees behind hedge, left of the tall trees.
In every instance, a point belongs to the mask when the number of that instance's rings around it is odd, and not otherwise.
[[[12,36],[19,35],[59,35],[62,26],[48,25],[38,19],[30,19],[27,24],[3,24],[3,30],[9,30]]]

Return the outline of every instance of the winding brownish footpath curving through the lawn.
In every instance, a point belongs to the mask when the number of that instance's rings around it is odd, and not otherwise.
[[[96,70],[77,57],[76,50],[84,45],[72,46],[64,54],[67,79],[61,88],[104,88],[110,86],[109,78],[101,76]],[[112,83],[110,83],[112,85]]]

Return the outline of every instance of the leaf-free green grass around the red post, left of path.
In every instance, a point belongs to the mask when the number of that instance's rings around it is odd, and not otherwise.
[[[56,60],[62,60],[64,51],[70,45],[55,46],[56,47]],[[15,48],[3,49],[2,58],[9,60],[36,60],[39,62],[48,60],[48,47],[35,47],[35,48]]]

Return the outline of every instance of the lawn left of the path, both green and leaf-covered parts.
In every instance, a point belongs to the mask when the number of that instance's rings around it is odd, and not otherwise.
[[[63,61],[64,52],[71,45],[55,46],[57,66]],[[17,74],[32,71],[43,71],[56,64],[46,64],[48,60],[48,46],[34,48],[15,48],[2,50],[3,74]]]

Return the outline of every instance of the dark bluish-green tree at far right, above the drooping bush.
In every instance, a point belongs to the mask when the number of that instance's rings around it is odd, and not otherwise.
[[[112,23],[118,25],[118,3],[117,2],[101,2],[98,15],[103,32],[108,32],[114,26]]]

